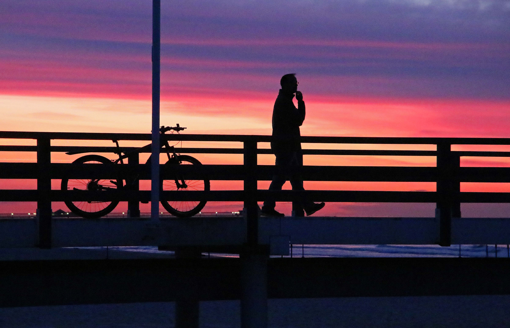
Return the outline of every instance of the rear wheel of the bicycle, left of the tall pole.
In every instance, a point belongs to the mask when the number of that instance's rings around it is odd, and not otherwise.
[[[85,155],[77,160],[74,160],[73,164],[84,164],[87,162],[99,162],[105,165],[113,165],[112,161],[108,158],[99,155]],[[122,187],[122,180],[116,179],[117,184],[113,184],[108,179],[62,179],[60,189],[61,190],[97,190],[95,186],[108,186],[108,188],[117,189],[118,186]],[[95,219],[101,216],[105,216],[115,209],[119,204],[118,201],[64,201],[65,205],[69,210],[81,217],[87,219]],[[94,204],[94,205],[92,205]]]

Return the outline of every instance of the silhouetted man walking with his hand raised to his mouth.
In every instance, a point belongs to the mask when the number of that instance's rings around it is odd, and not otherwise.
[[[273,108],[273,141],[271,149],[276,156],[276,170],[273,175],[273,181],[269,186],[269,190],[282,190],[282,186],[287,179],[287,173],[292,171],[290,183],[292,190],[304,190],[303,179],[298,172],[303,166],[303,153],[301,150],[301,141],[299,137],[301,133],[299,127],[303,124],[305,110],[303,94],[297,91],[297,79],[295,73],[285,74],[280,80],[280,89],[278,97],[274,102]],[[297,99],[297,108],[292,99],[294,93]],[[264,201],[261,209],[262,216],[284,216],[285,214],[277,212],[274,207],[274,200]],[[300,207],[307,213],[312,215],[324,207],[324,203],[313,203],[304,199],[300,203]],[[297,214],[297,213],[296,213]]]

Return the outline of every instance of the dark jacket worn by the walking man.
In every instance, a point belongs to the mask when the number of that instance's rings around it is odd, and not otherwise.
[[[294,152],[301,149],[299,127],[304,121],[304,101],[298,100],[297,107],[292,99],[294,94],[284,93],[282,89],[276,97],[273,108],[273,141],[271,149],[275,153]],[[278,139],[276,139],[278,138]]]

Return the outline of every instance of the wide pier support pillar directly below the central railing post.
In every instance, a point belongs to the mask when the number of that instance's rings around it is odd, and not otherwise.
[[[241,328],[267,328],[267,246],[247,247],[241,260]]]

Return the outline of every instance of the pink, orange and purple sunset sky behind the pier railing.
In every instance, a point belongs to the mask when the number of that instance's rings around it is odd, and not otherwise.
[[[150,131],[151,1],[3,0],[0,19],[0,130]],[[162,0],[162,124],[270,134],[279,78],[289,72],[307,105],[302,135],[510,137],[510,1]],[[435,165],[433,158],[307,161]],[[435,190],[346,186],[308,189]],[[390,207],[328,206],[338,215]]]

